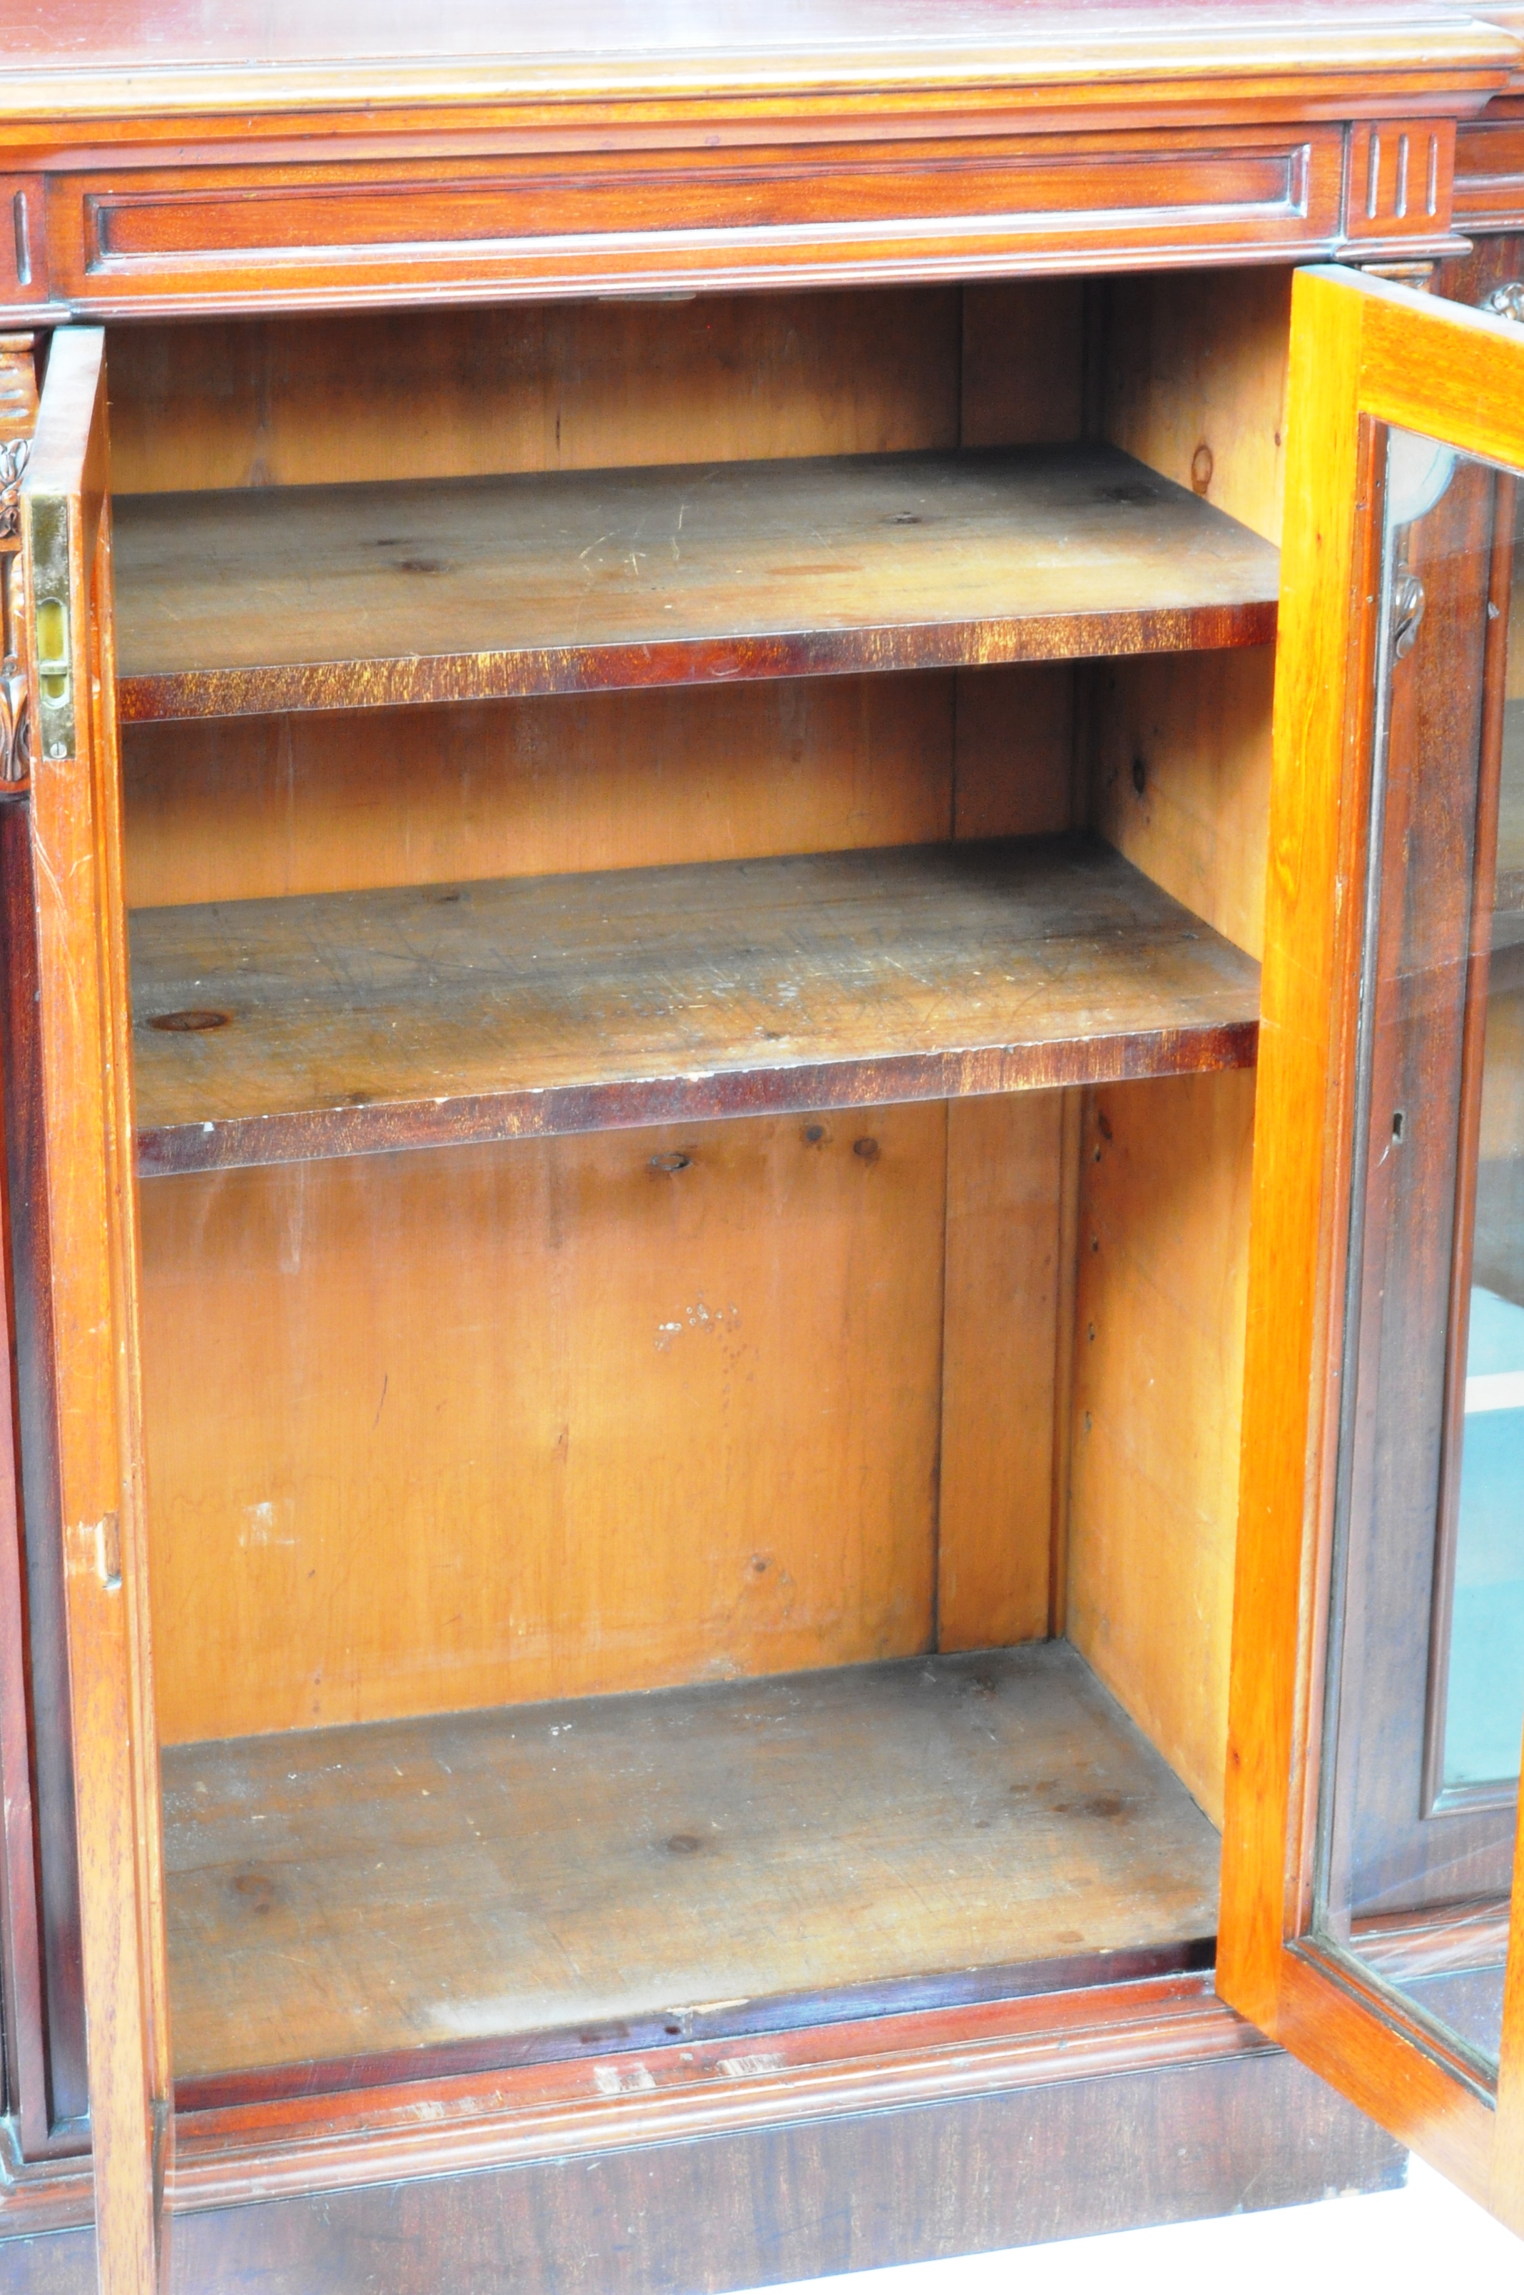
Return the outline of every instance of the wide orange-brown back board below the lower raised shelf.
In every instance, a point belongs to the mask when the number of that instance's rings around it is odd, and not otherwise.
[[[165,1742],[923,1650],[946,1111],[142,1189]]]

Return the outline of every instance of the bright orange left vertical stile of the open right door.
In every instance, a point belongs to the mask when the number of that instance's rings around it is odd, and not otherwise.
[[[1297,422],[1285,461],[1219,1921],[1219,1990],[1265,2031],[1278,2013],[1283,1939],[1311,1912],[1317,1806],[1311,1721],[1324,1556],[1315,1533],[1331,1512],[1329,1304],[1352,1161],[1343,1102],[1366,826],[1359,748],[1343,732],[1366,666],[1368,617],[1354,608],[1370,578],[1354,519],[1373,459],[1354,413],[1359,349],[1359,312],[1331,303],[1315,356],[1313,330],[1294,333],[1288,376]],[[1347,521],[1320,514],[1324,484],[1350,503]],[[1336,739],[1308,737],[1329,725]],[[1308,1138],[1322,1141],[1320,1154],[1304,1152]]]

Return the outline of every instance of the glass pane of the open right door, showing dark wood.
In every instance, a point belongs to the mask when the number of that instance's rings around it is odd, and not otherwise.
[[[1384,500],[1315,1937],[1485,2086],[1524,1740],[1524,569],[1508,473],[1391,431]]]

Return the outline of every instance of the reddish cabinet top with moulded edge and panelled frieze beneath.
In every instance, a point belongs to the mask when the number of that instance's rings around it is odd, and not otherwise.
[[[0,326],[1402,262],[1524,211],[1524,5],[16,0],[7,16]]]

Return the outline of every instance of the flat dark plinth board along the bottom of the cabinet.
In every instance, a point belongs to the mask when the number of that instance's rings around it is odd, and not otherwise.
[[[1405,2155],[1278,2049],[1037,2082],[496,2173],[177,2219],[174,2295],[670,2295],[1391,2189]],[[34,2212],[25,2228],[64,2224]],[[73,2217],[85,2222],[87,2208]],[[544,2226],[562,2226],[555,2242]],[[23,2217],[0,2203],[0,2235]],[[0,2247],[7,2295],[90,2295],[94,2242]]]

